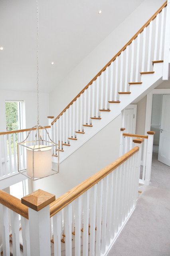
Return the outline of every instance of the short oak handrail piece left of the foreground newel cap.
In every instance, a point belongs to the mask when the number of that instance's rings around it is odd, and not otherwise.
[[[21,200],[15,196],[0,190],[0,203],[28,219],[28,206],[22,204]]]

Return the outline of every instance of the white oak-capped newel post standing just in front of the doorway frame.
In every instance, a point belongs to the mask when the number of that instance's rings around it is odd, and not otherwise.
[[[145,171],[145,185],[150,184],[150,173],[152,166],[152,151],[153,151],[153,141],[155,132],[149,131],[148,134],[148,145],[146,152],[146,171]]]

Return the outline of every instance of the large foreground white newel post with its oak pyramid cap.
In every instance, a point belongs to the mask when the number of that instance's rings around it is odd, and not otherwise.
[[[49,204],[54,200],[53,194],[41,189],[21,199],[28,206],[31,256],[51,256]]]

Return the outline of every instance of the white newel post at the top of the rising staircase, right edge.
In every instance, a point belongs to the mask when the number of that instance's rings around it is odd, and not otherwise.
[[[169,55],[170,55],[170,0],[167,1],[165,41],[164,41],[164,63],[163,63],[163,80],[168,80],[169,73]]]

